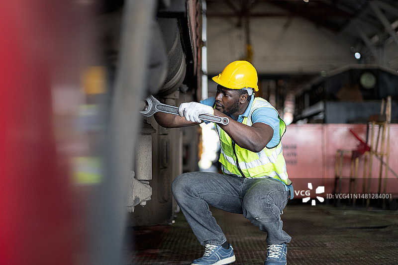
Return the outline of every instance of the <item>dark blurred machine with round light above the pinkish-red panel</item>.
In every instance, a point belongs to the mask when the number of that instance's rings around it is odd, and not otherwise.
[[[349,65],[313,79],[296,93],[295,122],[365,123],[392,96],[397,109],[398,74],[379,65]],[[398,113],[392,113],[392,122]]]

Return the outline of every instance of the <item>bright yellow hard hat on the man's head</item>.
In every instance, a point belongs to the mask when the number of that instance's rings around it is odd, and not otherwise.
[[[258,91],[257,71],[247,61],[235,61],[227,65],[221,74],[212,78],[213,81],[225,88],[241,89],[253,88]]]

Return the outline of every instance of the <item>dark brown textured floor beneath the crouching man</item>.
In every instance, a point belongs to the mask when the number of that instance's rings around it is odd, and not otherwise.
[[[264,264],[265,234],[242,215],[211,211],[234,248],[234,265]],[[288,204],[282,215],[292,236],[288,265],[396,264],[397,217],[397,211]],[[124,265],[190,265],[204,251],[181,213],[173,225],[130,228],[127,237]]]

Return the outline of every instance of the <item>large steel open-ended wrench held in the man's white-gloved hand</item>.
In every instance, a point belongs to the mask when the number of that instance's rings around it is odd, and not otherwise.
[[[146,101],[146,106],[143,110],[140,111],[140,113],[146,117],[150,117],[155,112],[158,112],[158,111],[170,113],[170,114],[174,114],[174,115],[179,115],[178,107],[160,103],[159,100],[157,100],[153,95],[150,95],[149,97],[145,98],[145,101]],[[203,121],[211,121],[211,122],[221,123],[223,125],[227,125],[229,123],[228,118],[219,117],[219,116],[215,116],[215,115],[211,115],[211,114],[200,114],[199,119],[201,119]]]

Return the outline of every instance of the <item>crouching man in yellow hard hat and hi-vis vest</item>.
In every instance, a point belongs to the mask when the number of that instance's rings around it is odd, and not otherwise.
[[[278,111],[258,91],[257,71],[249,62],[228,64],[218,76],[215,97],[179,106],[180,115],[155,113],[163,127],[197,125],[200,114],[228,117],[227,125],[216,124],[221,144],[219,162],[223,174],[192,172],[176,177],[173,195],[200,244],[203,257],[192,265],[224,265],[235,261],[231,244],[211,215],[209,205],[240,213],[267,232],[265,265],[286,265],[291,237],[282,230],[280,214],[290,196],[281,139],[286,125]],[[254,91],[253,91],[254,90]]]

